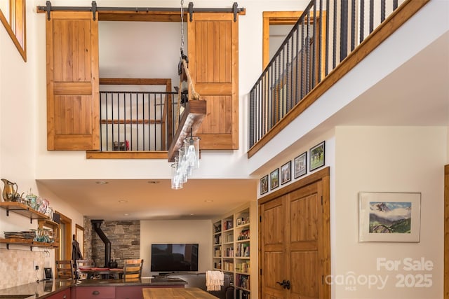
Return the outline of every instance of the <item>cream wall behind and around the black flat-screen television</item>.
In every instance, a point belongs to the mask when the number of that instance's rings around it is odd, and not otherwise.
[[[212,221],[140,221],[142,277],[157,274],[150,272],[153,243],[198,243],[198,271],[212,269]]]

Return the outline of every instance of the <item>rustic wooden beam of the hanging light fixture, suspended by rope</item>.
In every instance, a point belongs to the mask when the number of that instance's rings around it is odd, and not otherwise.
[[[206,116],[206,101],[194,100],[186,103],[185,110],[181,115],[180,124],[177,127],[175,137],[170,148],[168,148],[168,162],[175,162],[175,157],[180,147],[184,145],[184,139],[190,132],[196,134],[199,126]]]

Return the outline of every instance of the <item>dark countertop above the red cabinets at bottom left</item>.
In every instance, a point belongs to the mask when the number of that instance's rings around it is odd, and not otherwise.
[[[186,281],[177,278],[140,278],[133,280],[123,279],[85,279],[85,280],[70,280],[70,279],[55,279],[53,281],[39,281],[29,284],[22,284],[20,286],[13,286],[11,288],[0,289],[0,299],[44,299],[60,291],[65,291],[71,288],[83,288],[89,286],[145,286],[147,288],[173,286],[183,288],[187,284]],[[76,299],[76,298],[72,298]]]

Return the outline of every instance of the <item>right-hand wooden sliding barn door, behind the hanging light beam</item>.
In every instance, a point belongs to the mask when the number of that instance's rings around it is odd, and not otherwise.
[[[187,22],[189,71],[207,114],[197,134],[203,149],[239,148],[239,20],[194,13]]]

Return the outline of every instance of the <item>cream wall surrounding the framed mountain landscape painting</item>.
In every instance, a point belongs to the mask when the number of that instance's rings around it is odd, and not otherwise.
[[[335,130],[335,223],[333,298],[438,299],[443,293],[443,166],[447,127],[337,127]],[[418,243],[358,242],[358,193],[422,193]],[[377,258],[399,260],[398,270],[377,270]],[[404,270],[404,258],[429,260],[431,270]],[[430,287],[401,286],[428,274]],[[340,279],[361,279],[344,284]],[[380,277],[382,286],[363,284]],[[424,281],[425,282],[425,281]],[[396,286],[396,284],[398,284]]]

